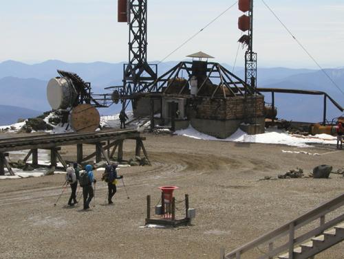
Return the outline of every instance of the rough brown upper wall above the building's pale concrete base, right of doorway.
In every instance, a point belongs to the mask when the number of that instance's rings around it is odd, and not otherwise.
[[[245,116],[246,115],[246,116]],[[203,98],[195,117],[205,120],[241,120],[244,117],[264,117],[264,96]]]

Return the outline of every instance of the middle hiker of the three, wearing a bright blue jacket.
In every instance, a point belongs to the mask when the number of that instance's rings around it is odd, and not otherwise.
[[[96,184],[96,179],[92,172],[92,166],[85,166],[85,171],[80,174],[79,183],[83,188],[83,199],[84,199],[84,210],[89,209],[89,203],[91,203],[92,198],[94,197],[94,188],[92,183]]]

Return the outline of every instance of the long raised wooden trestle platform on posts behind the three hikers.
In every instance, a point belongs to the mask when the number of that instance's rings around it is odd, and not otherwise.
[[[0,139],[0,175],[5,174],[4,168],[8,168],[11,175],[14,175],[10,164],[8,163],[8,152],[18,150],[30,150],[23,159],[24,162],[32,157],[32,166],[39,166],[39,149],[50,150],[50,166],[56,167],[57,160],[61,161],[63,168],[67,168],[67,163],[61,157],[59,150],[61,146],[76,145],[77,162],[81,164],[96,157],[96,163],[105,159],[110,164],[110,159],[114,157],[117,151],[117,160],[123,159],[123,142],[125,139],[136,140],[136,156],[140,157],[141,150],[147,161],[149,161],[147,151],[144,148],[144,137],[133,129],[124,130],[105,130],[92,133],[63,133],[54,135],[35,135],[28,137],[14,137],[10,139]],[[87,157],[83,156],[83,144],[94,144],[95,152]],[[112,148],[112,150],[111,150]],[[149,163],[150,164],[150,163]]]

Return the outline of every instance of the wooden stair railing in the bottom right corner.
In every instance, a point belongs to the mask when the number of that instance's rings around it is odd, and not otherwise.
[[[293,251],[295,245],[299,245],[303,243],[305,240],[308,240],[312,238],[313,236],[319,236],[322,234],[326,229],[329,229],[331,227],[334,227],[335,225],[338,225],[338,223],[341,223],[344,221],[344,212],[341,211],[341,215],[337,216],[336,218],[325,221],[326,214],[329,214],[330,212],[333,212],[334,210],[338,209],[339,207],[342,207],[344,205],[344,194],[341,194],[340,196],[336,197],[335,199],[332,199],[331,201],[328,201],[327,203],[323,203],[319,207],[316,207],[316,209],[311,210],[308,213],[303,214],[302,216],[299,216],[299,218],[294,219],[294,221],[290,221],[286,225],[283,225],[282,227],[279,227],[278,229],[273,230],[272,232],[265,234],[264,236],[261,236],[260,238],[257,238],[256,240],[247,243],[246,245],[239,247],[238,249],[235,249],[234,251],[231,251],[229,254],[225,254],[224,249],[221,250],[221,259],[240,259],[241,255],[246,253],[247,251],[250,251],[252,249],[255,249],[256,247],[260,245],[266,245],[268,248],[268,251],[266,254],[256,257],[259,259],[272,259],[275,256],[278,256],[279,254],[289,251],[289,254],[292,256],[289,256],[289,259],[293,259]],[[316,227],[315,229],[312,229],[308,231],[305,234],[300,234],[299,236],[296,236],[295,231],[297,229],[300,229],[301,227],[308,225],[309,223],[312,223],[313,221],[319,220],[320,226]],[[281,245],[279,247],[274,247],[274,244],[277,243],[277,241],[280,238],[288,236],[288,243]]]

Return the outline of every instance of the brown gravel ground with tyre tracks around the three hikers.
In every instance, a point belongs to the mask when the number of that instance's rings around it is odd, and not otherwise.
[[[82,205],[66,206],[69,189],[54,207],[63,175],[0,181],[0,258],[219,258],[221,247],[229,252],[343,193],[344,177],[337,174],[331,179],[259,181],[297,166],[306,174],[319,164],[341,168],[343,152],[333,146],[292,148],[146,137],[153,165],[120,169],[130,199],[120,183],[114,205],[105,204],[107,186],[100,181],[96,206],[92,203],[87,211]],[[134,142],[125,142],[125,158],[132,157],[134,149]],[[91,148],[86,151],[92,153]],[[75,148],[63,148],[62,154],[74,159]],[[177,185],[178,200],[189,194],[196,209],[191,226],[141,227],[146,196],[151,194],[152,206],[158,203],[160,185]],[[259,256],[261,250],[264,247],[244,258]],[[343,258],[343,254],[344,243],[316,258]]]

